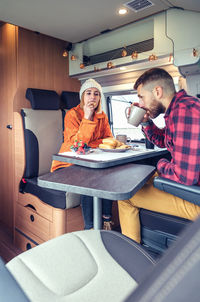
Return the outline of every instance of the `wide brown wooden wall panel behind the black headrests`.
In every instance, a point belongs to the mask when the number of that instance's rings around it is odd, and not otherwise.
[[[79,91],[80,82],[69,78],[68,58],[62,56],[66,42],[19,28],[17,92],[14,111],[28,107],[26,88]]]

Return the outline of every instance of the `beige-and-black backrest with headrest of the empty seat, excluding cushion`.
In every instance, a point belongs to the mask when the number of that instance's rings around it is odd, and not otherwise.
[[[63,141],[60,98],[55,91],[28,88],[27,99],[32,109],[21,111],[25,137],[25,178],[48,173],[52,155]]]

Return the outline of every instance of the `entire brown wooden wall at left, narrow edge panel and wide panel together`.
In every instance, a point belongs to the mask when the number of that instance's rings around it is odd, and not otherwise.
[[[0,24],[0,221],[13,226],[14,139],[13,112],[30,107],[26,88],[78,91],[80,82],[69,78],[66,42],[11,24]]]

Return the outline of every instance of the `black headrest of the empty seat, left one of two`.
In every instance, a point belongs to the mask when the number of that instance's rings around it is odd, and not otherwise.
[[[56,91],[27,88],[26,98],[30,101],[32,109],[58,110],[60,98]]]

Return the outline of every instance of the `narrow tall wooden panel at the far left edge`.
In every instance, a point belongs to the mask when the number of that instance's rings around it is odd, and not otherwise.
[[[18,28],[4,24],[0,27],[0,220],[13,225],[13,99],[16,92],[16,49]]]

